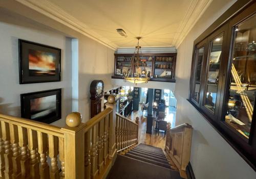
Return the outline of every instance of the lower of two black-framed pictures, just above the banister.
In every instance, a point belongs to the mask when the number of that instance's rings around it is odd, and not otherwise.
[[[20,94],[22,117],[52,123],[61,118],[61,89]]]

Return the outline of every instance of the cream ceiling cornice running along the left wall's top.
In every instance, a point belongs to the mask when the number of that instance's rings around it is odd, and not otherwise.
[[[117,45],[112,43],[110,40],[100,36],[99,34],[92,31],[86,24],[77,20],[75,17],[71,16],[55,4],[47,0],[15,0],[53,20],[66,25],[67,27],[111,48],[116,50]]]

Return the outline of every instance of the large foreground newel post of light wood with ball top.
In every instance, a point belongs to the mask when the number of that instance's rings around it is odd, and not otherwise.
[[[70,113],[66,117],[64,133],[65,178],[84,178],[84,123],[81,114]]]

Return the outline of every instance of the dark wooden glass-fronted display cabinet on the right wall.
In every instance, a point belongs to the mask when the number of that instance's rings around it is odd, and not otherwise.
[[[194,42],[189,101],[255,170],[256,2],[217,22]]]

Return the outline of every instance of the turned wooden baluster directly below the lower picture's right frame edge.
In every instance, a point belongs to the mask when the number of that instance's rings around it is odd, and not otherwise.
[[[49,140],[49,157],[51,158],[50,178],[59,178],[58,173],[58,138],[53,135],[48,135]]]

